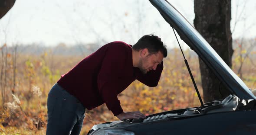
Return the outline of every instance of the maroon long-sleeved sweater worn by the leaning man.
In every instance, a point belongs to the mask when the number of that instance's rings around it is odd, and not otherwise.
[[[58,84],[75,96],[86,109],[106,103],[114,116],[123,112],[117,95],[135,79],[149,87],[158,85],[163,62],[155,71],[143,74],[132,65],[131,45],[108,43],[63,74]]]

